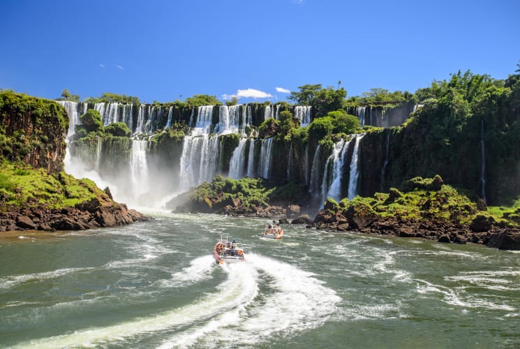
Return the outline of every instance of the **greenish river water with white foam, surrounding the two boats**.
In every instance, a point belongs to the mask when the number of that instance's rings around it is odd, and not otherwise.
[[[518,348],[520,254],[150,212],[0,239],[0,346]],[[246,262],[217,265],[221,234]]]

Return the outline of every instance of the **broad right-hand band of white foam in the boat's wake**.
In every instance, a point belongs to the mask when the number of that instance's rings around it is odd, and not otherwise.
[[[263,299],[255,299],[246,310],[225,313],[187,336],[176,336],[161,348],[226,346],[230,338],[237,346],[258,345],[276,335],[290,336],[322,325],[341,300],[313,274],[292,265],[251,253],[244,267],[242,272],[257,275],[254,283],[272,288],[260,295]]]

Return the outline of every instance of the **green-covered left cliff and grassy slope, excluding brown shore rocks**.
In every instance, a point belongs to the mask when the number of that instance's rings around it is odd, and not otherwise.
[[[55,101],[0,92],[0,212],[61,209],[98,198],[112,202],[89,179],[63,171],[68,117]],[[96,128],[96,119],[91,120]],[[50,163],[52,162],[52,165]]]

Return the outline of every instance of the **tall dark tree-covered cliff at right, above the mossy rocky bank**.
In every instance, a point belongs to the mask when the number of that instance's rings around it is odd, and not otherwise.
[[[473,191],[493,205],[510,205],[520,193],[519,75],[493,80],[459,71],[450,80],[419,89],[417,97],[422,107],[392,132],[385,187],[440,174],[447,183]],[[367,162],[373,163],[377,156],[370,149],[386,142],[384,133],[364,138]],[[378,178],[380,161],[370,177]],[[373,193],[379,187],[379,181],[365,183],[363,192]]]

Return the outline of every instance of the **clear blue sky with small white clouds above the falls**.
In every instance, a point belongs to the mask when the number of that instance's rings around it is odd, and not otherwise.
[[[505,79],[520,1],[29,1],[0,6],[0,88],[169,102],[284,101],[304,84],[415,92],[458,70]]]

